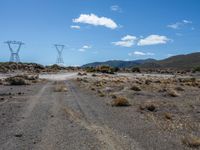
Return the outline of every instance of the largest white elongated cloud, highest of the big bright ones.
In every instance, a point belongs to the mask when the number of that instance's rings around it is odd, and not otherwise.
[[[74,23],[85,23],[94,26],[104,26],[110,29],[116,29],[118,25],[110,18],[98,17],[95,14],[81,14],[78,18],[72,20]]]

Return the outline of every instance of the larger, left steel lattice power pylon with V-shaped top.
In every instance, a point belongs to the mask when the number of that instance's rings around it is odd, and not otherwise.
[[[19,63],[20,62],[19,51],[21,49],[21,46],[24,45],[24,43],[21,41],[6,41],[5,43],[8,44],[8,47],[11,52],[10,62]],[[15,50],[13,49],[14,46],[16,48]]]

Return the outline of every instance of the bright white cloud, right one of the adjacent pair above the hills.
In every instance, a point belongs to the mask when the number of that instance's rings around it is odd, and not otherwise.
[[[169,39],[166,36],[149,35],[144,39],[140,39],[137,45],[145,46],[145,45],[166,44],[168,41]]]

